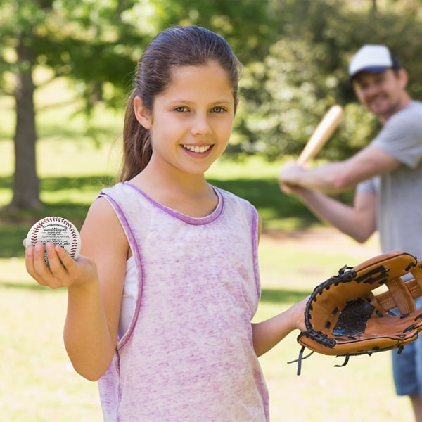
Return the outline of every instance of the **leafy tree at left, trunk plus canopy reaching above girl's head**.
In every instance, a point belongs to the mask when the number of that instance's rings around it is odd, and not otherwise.
[[[246,19],[245,19],[246,18]],[[1,87],[15,97],[15,173],[9,207],[41,206],[35,146],[34,70],[65,76],[82,87],[84,112],[98,101],[121,105],[143,46],[172,24],[205,25],[238,47],[242,60],[263,57],[267,32],[265,2],[215,0],[4,0],[0,4]],[[252,27],[258,25],[259,31]],[[5,75],[14,75],[13,87]],[[128,78],[127,78],[128,80]],[[129,85],[129,84],[127,84]],[[105,91],[104,87],[108,89]],[[107,92],[106,95],[104,93]]]

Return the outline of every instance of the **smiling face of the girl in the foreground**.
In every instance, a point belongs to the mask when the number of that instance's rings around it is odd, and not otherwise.
[[[179,66],[167,89],[148,113],[134,102],[139,122],[150,129],[151,164],[189,174],[203,174],[229,143],[234,97],[226,71],[216,62]]]

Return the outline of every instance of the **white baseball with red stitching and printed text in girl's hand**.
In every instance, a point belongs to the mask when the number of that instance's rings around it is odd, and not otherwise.
[[[77,228],[67,219],[62,217],[45,217],[36,222],[28,231],[26,246],[34,246],[35,243],[53,242],[61,246],[76,260],[81,250],[81,237]],[[49,264],[46,252],[44,260]]]

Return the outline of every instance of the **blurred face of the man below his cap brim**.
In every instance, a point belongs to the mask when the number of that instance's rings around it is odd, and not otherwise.
[[[353,78],[353,87],[359,101],[386,122],[407,105],[407,74],[404,70],[360,72]]]

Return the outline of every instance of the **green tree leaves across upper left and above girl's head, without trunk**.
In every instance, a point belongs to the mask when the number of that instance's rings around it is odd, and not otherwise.
[[[6,0],[0,11],[4,91],[13,92],[11,74],[18,64],[13,50],[16,39],[24,37],[35,65],[51,71],[41,84],[72,79],[75,98],[84,98],[87,110],[97,101],[122,107],[143,48],[170,25],[206,25],[226,36],[245,61],[267,51],[262,47],[269,19],[265,2],[253,0],[212,1],[200,8],[190,0]]]

